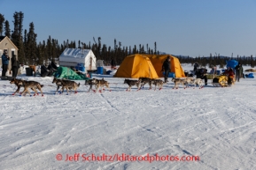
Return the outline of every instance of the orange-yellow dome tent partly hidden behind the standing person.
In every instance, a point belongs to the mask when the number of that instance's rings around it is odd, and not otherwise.
[[[175,78],[184,78],[185,73],[182,69],[182,65],[178,58],[173,55],[145,55],[151,59],[155,70],[157,71],[159,78],[164,77],[162,70],[163,63],[167,59],[167,56],[171,57],[171,72],[175,73]]]

